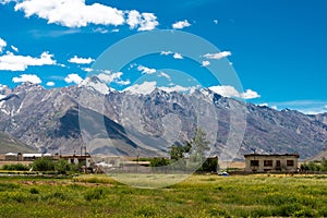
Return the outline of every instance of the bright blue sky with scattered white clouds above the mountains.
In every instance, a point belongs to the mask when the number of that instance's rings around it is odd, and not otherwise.
[[[146,88],[164,87],[166,80],[166,88],[178,90],[201,84],[279,110],[325,112],[326,10],[325,0],[0,0],[0,84],[75,85],[111,45],[138,33],[174,29],[199,36],[221,52],[203,53],[202,66],[162,50],[119,72],[109,63],[104,80],[116,89],[145,81]],[[206,66],[220,59],[235,70],[243,90],[207,76]]]

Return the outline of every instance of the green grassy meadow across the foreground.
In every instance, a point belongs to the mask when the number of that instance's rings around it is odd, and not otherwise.
[[[192,175],[145,190],[106,175],[0,178],[0,217],[327,217],[327,177]]]

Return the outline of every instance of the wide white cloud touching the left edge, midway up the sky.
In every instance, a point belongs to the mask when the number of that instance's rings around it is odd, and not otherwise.
[[[4,71],[25,71],[31,65],[53,65],[57,63],[52,59],[53,55],[43,52],[39,58],[31,56],[15,56],[12,52],[0,57],[0,70]]]

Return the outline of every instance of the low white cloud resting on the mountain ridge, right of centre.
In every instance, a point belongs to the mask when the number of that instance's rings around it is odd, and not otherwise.
[[[230,85],[218,85],[209,87],[210,90],[217,93],[223,97],[235,97],[235,98],[243,98],[243,99],[253,99],[259,98],[261,96],[251,89],[247,89],[245,93],[239,93],[233,86]]]

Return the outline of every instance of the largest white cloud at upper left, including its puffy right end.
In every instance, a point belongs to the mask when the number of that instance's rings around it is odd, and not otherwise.
[[[13,0],[0,0],[0,3],[11,1]],[[120,26],[128,23],[131,28],[137,27],[137,31],[152,31],[159,25],[154,13],[122,11],[100,3],[86,4],[85,0],[22,0],[15,3],[15,11],[23,11],[26,17],[36,15],[49,24],[73,28],[89,24]]]

